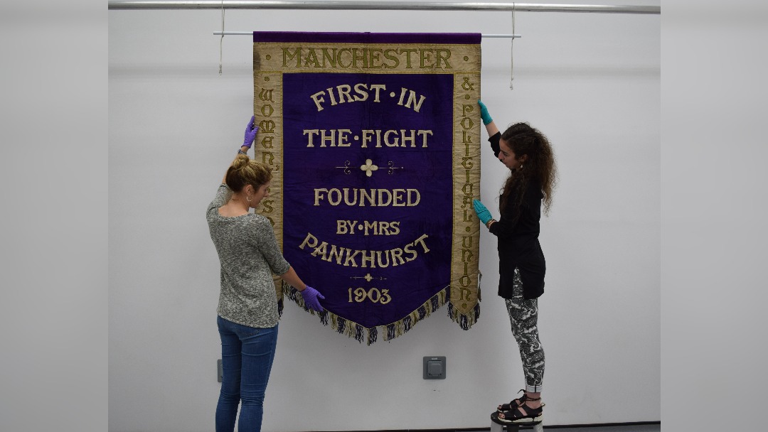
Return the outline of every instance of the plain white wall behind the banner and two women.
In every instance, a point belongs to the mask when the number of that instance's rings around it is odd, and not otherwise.
[[[511,33],[507,12],[225,18],[228,31]],[[253,108],[251,38],[223,38],[219,75],[220,27],[211,10],[109,12],[113,432],[214,427],[219,274],[204,209]],[[541,223],[546,422],[660,420],[660,16],[518,13],[515,32],[515,89],[510,40],[484,38],[482,98],[499,127],[527,120],[558,156]],[[505,168],[489,147],[482,167],[482,196],[498,213]],[[495,239],[484,231],[481,242],[481,317],[469,331],[443,307],[366,346],[286,305],[264,430],[488,427],[524,382],[495,295]],[[447,379],[422,380],[425,355],[448,358]]]

